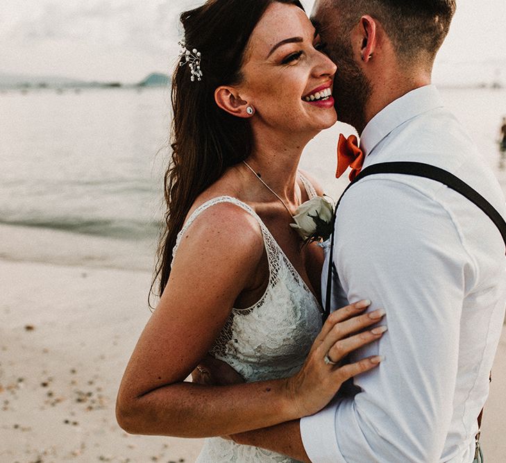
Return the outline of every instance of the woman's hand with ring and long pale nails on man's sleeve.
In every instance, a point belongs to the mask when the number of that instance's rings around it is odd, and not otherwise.
[[[382,326],[364,331],[385,316],[384,310],[359,315],[369,305],[369,301],[360,301],[330,314],[301,371],[287,379],[300,417],[319,412],[349,378],[378,367],[382,360],[378,356],[339,365],[348,353],[377,341],[386,331]]]

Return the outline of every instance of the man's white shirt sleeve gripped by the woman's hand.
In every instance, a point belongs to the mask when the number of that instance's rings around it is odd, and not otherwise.
[[[441,457],[453,415],[459,323],[473,262],[448,211],[395,180],[366,178],[337,214],[334,262],[351,302],[384,308],[389,330],[356,361],[383,355],[341,398],[301,420],[312,462],[416,463]],[[338,289],[339,290],[339,289]]]

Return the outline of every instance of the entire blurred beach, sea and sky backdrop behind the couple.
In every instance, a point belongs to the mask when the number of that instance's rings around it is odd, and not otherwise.
[[[199,441],[127,436],[113,405],[150,313],[178,15],[201,3],[1,2],[2,462],[193,461],[199,453]],[[310,12],[312,1],[303,3]],[[457,7],[434,81],[506,192],[498,149],[506,4]],[[334,198],[346,186],[333,178],[335,142],[352,131],[337,124],[303,156]],[[505,382],[503,358],[491,401]],[[486,427],[505,428],[502,407],[489,407]],[[504,442],[488,436],[489,461],[503,461]]]

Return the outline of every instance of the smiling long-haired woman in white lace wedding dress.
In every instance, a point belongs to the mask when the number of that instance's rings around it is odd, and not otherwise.
[[[361,301],[322,329],[323,251],[289,226],[323,194],[298,162],[335,124],[336,66],[297,0],[209,0],[181,20],[161,297],[124,373],[117,419],[135,434],[211,437],[199,462],[289,462],[219,436],[313,414],[381,360],[335,363],[379,339],[366,328],[382,312],[363,314]],[[185,382],[208,354],[246,382]]]

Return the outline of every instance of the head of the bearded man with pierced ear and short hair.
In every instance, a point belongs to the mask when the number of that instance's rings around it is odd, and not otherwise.
[[[456,0],[316,0],[312,20],[337,64],[337,115],[361,132],[375,92],[416,87],[432,65]]]

